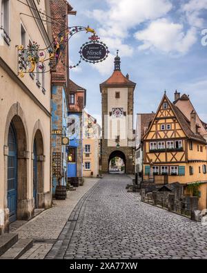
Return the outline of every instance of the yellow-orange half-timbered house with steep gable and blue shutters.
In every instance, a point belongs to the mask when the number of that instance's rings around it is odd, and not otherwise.
[[[200,208],[206,208],[206,140],[199,133],[195,111],[188,120],[165,93],[142,142],[144,176],[157,176],[157,184],[205,185],[199,195]]]

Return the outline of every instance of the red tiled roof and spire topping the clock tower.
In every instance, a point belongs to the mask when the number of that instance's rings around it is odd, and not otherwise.
[[[121,58],[119,57],[119,50],[117,50],[117,56],[115,57],[115,70],[106,82],[100,84],[100,86],[105,85],[131,85],[136,86],[135,82],[130,81],[128,77],[125,77],[121,73]]]

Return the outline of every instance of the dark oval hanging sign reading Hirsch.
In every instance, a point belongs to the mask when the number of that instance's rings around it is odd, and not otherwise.
[[[80,50],[81,59],[90,64],[97,64],[103,62],[110,53],[108,46],[101,41],[88,41],[81,46]]]

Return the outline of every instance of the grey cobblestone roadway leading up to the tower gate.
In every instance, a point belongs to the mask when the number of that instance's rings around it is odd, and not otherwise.
[[[70,216],[46,258],[207,258],[201,223],[141,203],[127,176],[100,180]]]

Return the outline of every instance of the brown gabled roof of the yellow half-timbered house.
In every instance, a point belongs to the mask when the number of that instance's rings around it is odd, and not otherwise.
[[[189,99],[189,98],[188,98]],[[179,108],[177,106],[175,106],[175,104],[172,104],[172,102],[170,102],[170,100],[168,99],[167,95],[165,94],[164,97],[161,100],[161,103],[159,104],[159,107],[157,109],[157,113],[154,117],[154,119],[152,120],[152,123],[147,131],[147,133],[144,135],[143,138],[145,138],[145,136],[148,134],[148,132],[150,131],[150,129],[152,128],[152,124],[155,122],[155,118],[157,117],[157,114],[159,112],[159,109],[161,107],[161,104],[163,104],[164,100],[167,100],[168,104],[171,106],[172,112],[174,113],[175,117],[177,118],[177,121],[179,122],[179,125],[181,126],[181,129],[184,131],[184,133],[186,134],[187,138],[190,138],[192,140],[197,140],[199,142],[204,142],[206,143],[206,140],[199,134],[199,133],[193,133],[193,131],[191,131],[190,129],[190,121],[187,119],[187,117],[179,110]]]

